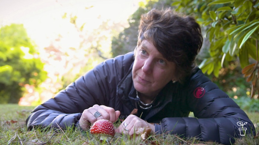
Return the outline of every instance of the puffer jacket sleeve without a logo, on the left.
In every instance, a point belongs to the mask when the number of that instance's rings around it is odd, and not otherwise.
[[[108,59],[88,71],[54,98],[37,106],[26,120],[27,128],[77,126],[84,109],[94,104],[114,106],[117,83],[132,64],[131,58],[133,54]]]

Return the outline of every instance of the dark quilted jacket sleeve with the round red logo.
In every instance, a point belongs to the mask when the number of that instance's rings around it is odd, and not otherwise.
[[[164,118],[160,125],[164,132],[171,131],[182,137],[196,137],[201,141],[216,141],[221,144],[234,143],[234,138],[241,135],[255,135],[254,125],[246,113],[212,83],[201,70],[194,74],[188,85],[187,106],[195,117],[168,117]],[[200,89],[200,90],[199,90]],[[198,92],[197,92],[198,91]],[[243,128],[246,132],[240,132],[237,122],[246,123]]]

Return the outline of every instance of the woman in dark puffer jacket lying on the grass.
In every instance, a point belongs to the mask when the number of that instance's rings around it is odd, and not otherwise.
[[[202,42],[192,17],[151,10],[142,15],[134,52],[105,60],[37,106],[27,127],[87,130],[96,120],[120,118],[120,133],[150,127],[157,134],[231,144],[242,121],[247,135],[255,135],[245,112],[195,67]]]

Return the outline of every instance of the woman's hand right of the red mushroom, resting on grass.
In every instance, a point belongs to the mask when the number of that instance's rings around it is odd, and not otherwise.
[[[140,134],[147,127],[150,127],[155,132],[155,126],[145,120],[140,119],[136,115],[129,115],[116,129],[116,132],[133,135]]]

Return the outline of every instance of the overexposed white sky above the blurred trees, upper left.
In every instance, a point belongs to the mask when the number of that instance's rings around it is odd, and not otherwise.
[[[43,46],[47,38],[66,29],[64,13],[78,16],[78,23],[86,22],[84,28],[94,29],[105,19],[125,22],[139,1],[144,0],[0,0],[0,26],[22,23],[36,44]]]

